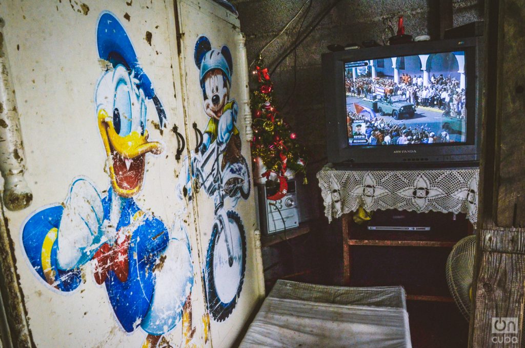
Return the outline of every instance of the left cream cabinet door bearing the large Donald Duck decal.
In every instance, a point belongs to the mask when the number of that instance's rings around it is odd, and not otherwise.
[[[205,344],[174,8],[0,4],[33,192],[5,217],[38,347]]]

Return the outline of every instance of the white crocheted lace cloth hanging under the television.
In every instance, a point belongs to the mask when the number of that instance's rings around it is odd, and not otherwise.
[[[438,170],[335,170],[317,173],[328,221],[360,206],[367,211],[466,213],[476,223],[478,168]]]

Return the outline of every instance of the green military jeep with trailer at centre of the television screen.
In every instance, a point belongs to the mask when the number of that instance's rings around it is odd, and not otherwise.
[[[379,112],[380,115],[391,115],[396,120],[403,117],[412,118],[416,112],[414,104],[408,103],[403,95],[367,95],[367,98],[362,99],[360,103],[371,108],[374,112]]]

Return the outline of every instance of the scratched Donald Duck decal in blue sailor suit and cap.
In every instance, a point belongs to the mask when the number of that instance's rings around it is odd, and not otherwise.
[[[99,58],[108,62],[95,103],[111,187],[102,195],[88,179],[75,179],[63,203],[27,218],[22,245],[38,277],[62,293],[78,288],[82,266],[91,262],[122,329],[131,333],[140,326],[148,333],[144,346],[155,346],[181,318],[183,329],[188,325],[193,286],[187,236],[170,236],[133,199],[142,187],[145,156],[163,151],[148,140],[146,105],[154,105],[161,126],[166,115],[112,13],[99,16],[97,45]]]

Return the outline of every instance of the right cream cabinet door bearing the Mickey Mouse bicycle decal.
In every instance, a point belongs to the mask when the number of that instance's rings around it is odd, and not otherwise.
[[[177,4],[193,208],[201,231],[211,338],[214,346],[231,346],[264,296],[254,247],[244,36],[238,19],[216,3]]]

